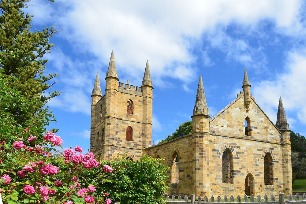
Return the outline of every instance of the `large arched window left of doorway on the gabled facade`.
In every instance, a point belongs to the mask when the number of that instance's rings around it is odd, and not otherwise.
[[[229,148],[222,155],[222,183],[233,184],[233,154]]]

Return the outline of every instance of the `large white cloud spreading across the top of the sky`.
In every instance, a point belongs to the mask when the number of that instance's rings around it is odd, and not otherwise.
[[[47,16],[58,22],[56,28],[63,29],[58,35],[75,50],[94,54],[107,65],[113,49],[118,72],[134,78],[141,78],[145,61],[149,59],[152,76],[157,78],[153,81],[165,76],[180,79],[185,84],[195,80],[195,57],[191,51],[198,46],[203,34],[212,47],[222,50],[229,58],[243,65],[263,67],[265,56],[261,47],[250,46],[243,36],[235,39],[226,35],[224,30],[229,24],[256,30],[268,19],[274,24],[274,31],[279,33],[297,35],[304,30],[299,0],[192,3],[75,0],[55,4],[59,4],[58,13],[53,11],[50,17],[47,10]],[[35,15],[46,10],[39,8],[39,11],[33,10]],[[207,53],[203,60],[204,65],[211,64]]]

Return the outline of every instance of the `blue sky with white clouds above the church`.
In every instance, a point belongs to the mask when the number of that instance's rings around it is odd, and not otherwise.
[[[46,73],[62,95],[48,105],[63,147],[89,147],[91,91],[102,93],[111,50],[120,82],[141,86],[149,61],[156,142],[191,120],[199,75],[210,116],[242,91],[244,68],[256,102],[274,123],[282,96],[290,129],[306,135],[306,22],[302,1],[33,0],[33,28],[54,26]]]

